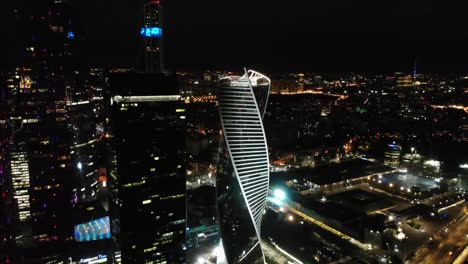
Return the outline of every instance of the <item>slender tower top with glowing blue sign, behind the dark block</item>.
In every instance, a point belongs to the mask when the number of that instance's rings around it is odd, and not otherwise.
[[[144,43],[146,72],[164,72],[162,21],[160,0],[147,1],[143,12],[143,27],[140,32]]]

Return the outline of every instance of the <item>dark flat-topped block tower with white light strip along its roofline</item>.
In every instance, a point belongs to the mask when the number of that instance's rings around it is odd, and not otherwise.
[[[175,77],[110,77],[124,263],[185,263],[185,108]],[[113,226],[115,230],[115,226]]]

